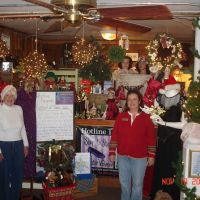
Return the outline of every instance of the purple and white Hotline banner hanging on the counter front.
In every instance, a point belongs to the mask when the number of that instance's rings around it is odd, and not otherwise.
[[[109,159],[111,127],[78,126],[77,151],[90,152],[92,171],[97,175],[117,176],[115,163]]]

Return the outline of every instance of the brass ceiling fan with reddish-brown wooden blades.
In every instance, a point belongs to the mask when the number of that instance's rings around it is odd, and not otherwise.
[[[52,24],[45,33],[62,31],[66,27],[81,22],[83,19],[94,26],[117,28],[118,31],[145,33],[150,31],[151,28],[133,24],[126,20],[172,19],[172,14],[163,5],[96,8],[96,0],[51,0],[51,3],[41,0],[23,1],[48,8],[52,14],[15,14],[15,18],[35,16],[44,20],[62,19]],[[9,17],[12,17],[12,15],[7,15],[7,18]]]

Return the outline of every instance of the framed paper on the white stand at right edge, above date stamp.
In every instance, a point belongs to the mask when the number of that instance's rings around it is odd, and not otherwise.
[[[200,150],[190,150],[189,177],[200,178]]]

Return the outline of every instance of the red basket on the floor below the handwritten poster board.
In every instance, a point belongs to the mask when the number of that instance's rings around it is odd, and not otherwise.
[[[44,200],[73,200],[72,191],[75,189],[75,184],[70,186],[49,188],[43,183]]]

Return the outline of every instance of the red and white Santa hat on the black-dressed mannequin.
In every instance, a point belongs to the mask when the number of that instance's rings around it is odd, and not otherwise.
[[[173,76],[169,76],[167,80],[164,82],[164,88],[159,90],[160,94],[164,94],[166,97],[174,97],[176,96],[180,90],[181,86],[176,82]]]

